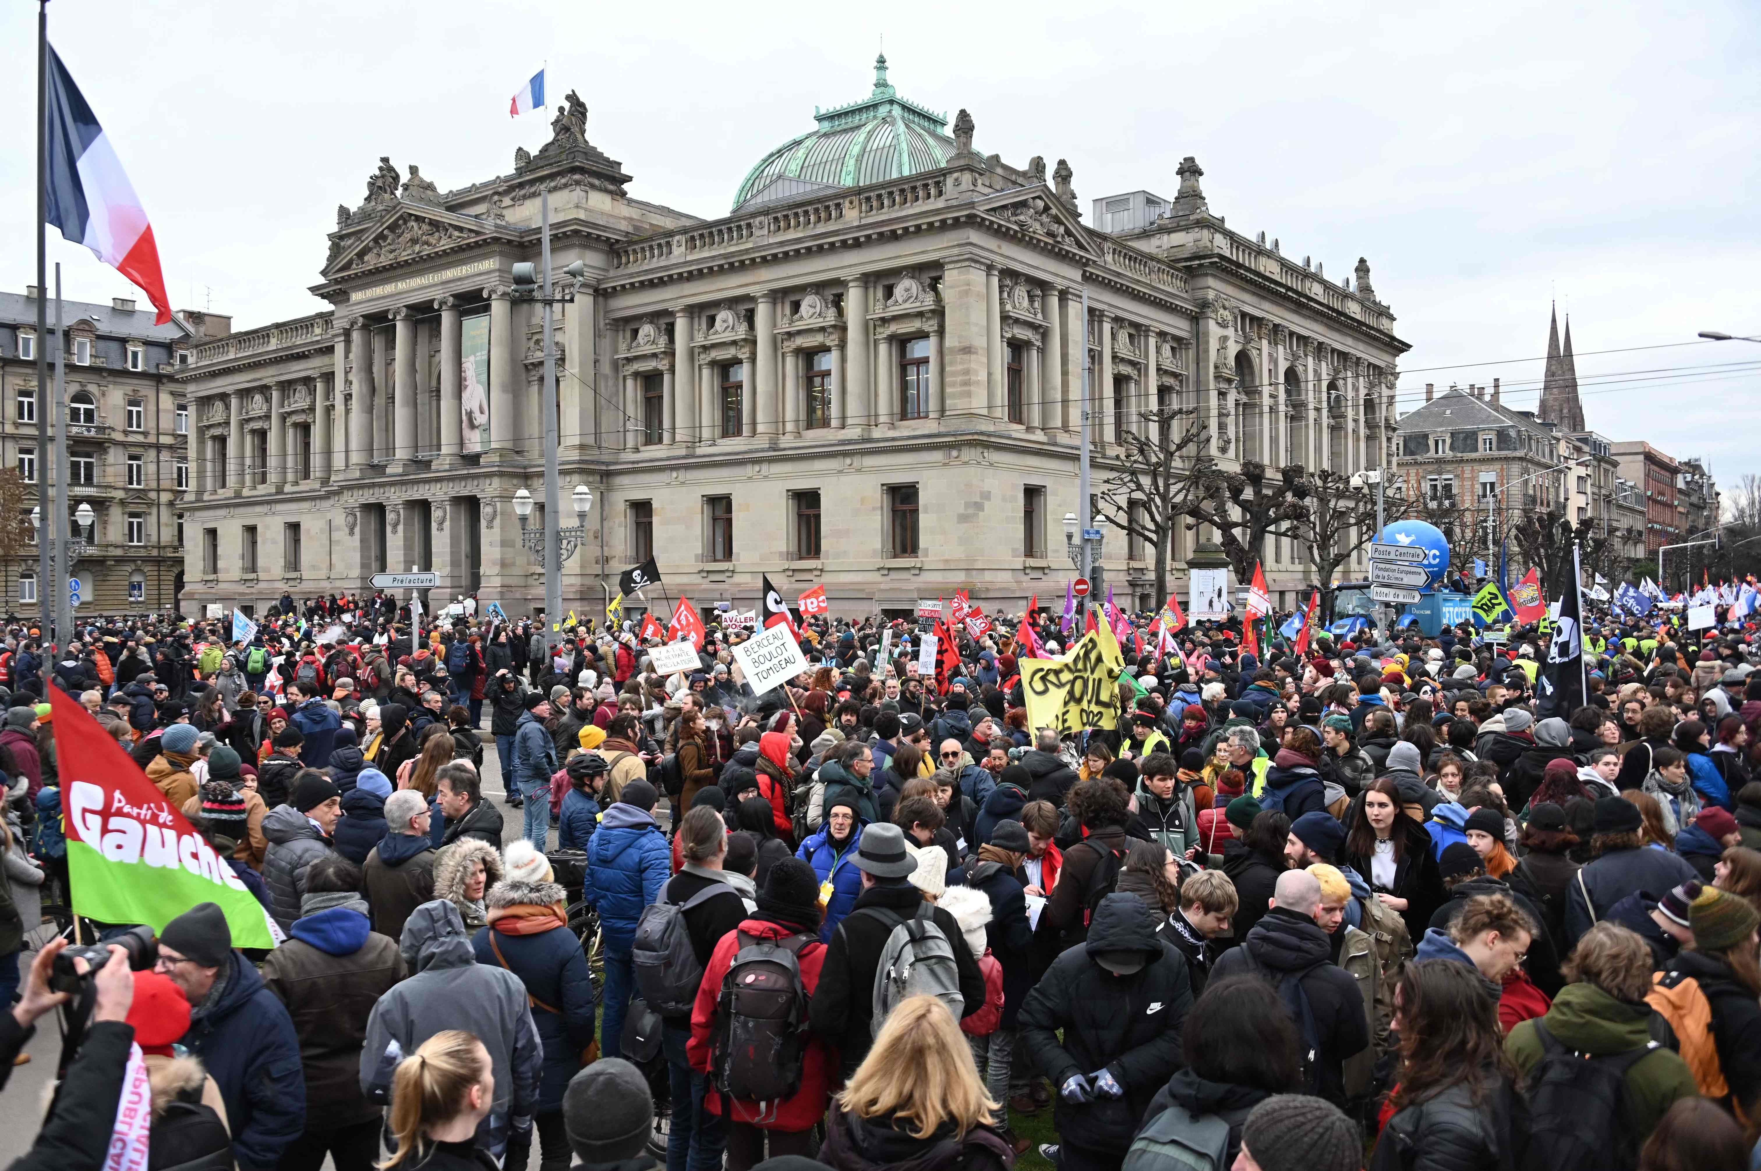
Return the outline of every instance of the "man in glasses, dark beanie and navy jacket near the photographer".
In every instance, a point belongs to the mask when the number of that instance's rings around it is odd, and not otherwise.
[[[220,1086],[238,1169],[275,1167],[306,1125],[299,1034],[287,1007],[232,949],[218,903],[197,903],[166,924],[153,970],[190,1002],[183,1048],[203,1058]]]

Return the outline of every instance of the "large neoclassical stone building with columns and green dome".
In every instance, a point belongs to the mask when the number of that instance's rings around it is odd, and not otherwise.
[[[1041,158],[972,141],[965,111],[949,127],[900,97],[880,58],[872,93],[815,113],[720,218],[632,197],[572,93],[512,174],[442,194],[380,160],[336,210],[313,285],[333,310],[199,343],[181,372],[185,611],[410,567],[440,574],[431,606],[542,604],[511,507],[542,500],[541,310],[511,282],[539,259],[542,192],[562,495],[593,490],[564,565],[579,613],[650,553],[699,606],[750,606],[761,574],[824,583],[835,613],[1062,595],[1085,343],[1097,484],[1155,401],[1203,412],[1226,463],[1391,467],[1407,347],[1367,264],[1330,284],[1231,231],[1190,158],[1173,201],[1095,201],[1099,231],[1064,160],[1048,183]],[[1146,551],[1113,537],[1109,579],[1150,604]],[[1303,569],[1275,546],[1271,588],[1293,590]]]

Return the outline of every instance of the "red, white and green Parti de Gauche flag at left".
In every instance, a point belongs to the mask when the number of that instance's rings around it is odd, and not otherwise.
[[[162,932],[197,903],[218,903],[234,947],[275,947],[280,930],[158,785],[77,699],[49,689],[67,826],[74,914]]]

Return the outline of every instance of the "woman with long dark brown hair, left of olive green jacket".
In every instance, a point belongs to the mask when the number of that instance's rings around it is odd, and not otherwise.
[[[1514,1069],[1504,1057],[1499,1000],[1477,968],[1453,960],[1409,963],[1395,986],[1400,1081],[1384,1113],[1370,1171],[1412,1167],[1449,1150],[1455,1171],[1511,1166]]]

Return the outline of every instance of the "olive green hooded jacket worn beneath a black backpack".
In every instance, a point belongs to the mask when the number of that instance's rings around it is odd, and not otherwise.
[[[1541,1021],[1578,1053],[1625,1053],[1650,1041],[1650,1005],[1622,1004],[1595,984],[1566,984]],[[1522,1021],[1504,1039],[1506,1057],[1525,1078],[1543,1051],[1534,1021]],[[1696,1094],[1694,1074],[1675,1049],[1652,1049],[1627,1071],[1627,1108],[1639,1136],[1648,1136],[1678,1099]]]

